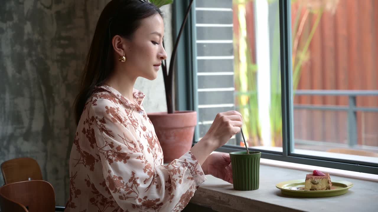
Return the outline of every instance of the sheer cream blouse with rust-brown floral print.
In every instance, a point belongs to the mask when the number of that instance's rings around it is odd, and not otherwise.
[[[190,151],[163,165],[144,94],[134,89],[133,98],[103,85],[85,104],[70,155],[66,212],[179,212],[205,181]]]

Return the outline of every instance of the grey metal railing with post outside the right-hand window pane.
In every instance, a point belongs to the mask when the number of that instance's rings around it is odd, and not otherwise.
[[[372,90],[296,90],[294,95],[319,95],[319,96],[347,96],[349,98],[348,106],[313,106],[304,104],[295,104],[294,109],[309,109],[323,111],[346,111],[348,113],[348,144],[353,147],[357,144],[357,112],[378,112],[378,108],[357,107],[357,96],[377,96],[378,91]]]

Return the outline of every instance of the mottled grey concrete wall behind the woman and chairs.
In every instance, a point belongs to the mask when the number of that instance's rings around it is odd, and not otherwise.
[[[107,2],[2,0],[0,6],[0,163],[36,159],[44,180],[54,186],[57,205],[68,198],[79,76]],[[165,9],[170,18],[170,7]],[[165,22],[169,38],[170,19]],[[155,81],[138,80],[135,87],[147,95],[148,112],[166,110],[161,74]]]

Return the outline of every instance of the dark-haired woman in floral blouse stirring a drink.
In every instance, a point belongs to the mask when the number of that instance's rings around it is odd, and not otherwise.
[[[144,95],[133,89],[136,78],[157,77],[163,36],[162,12],[149,2],[112,0],[102,11],[76,99],[65,211],[178,212],[205,175],[232,183],[229,155],[211,152],[240,131],[235,111],[218,114],[190,151],[163,165]]]

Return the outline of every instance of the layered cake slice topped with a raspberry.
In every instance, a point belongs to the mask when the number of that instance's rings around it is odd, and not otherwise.
[[[306,175],[305,190],[331,190],[332,182],[330,174],[314,170]]]

